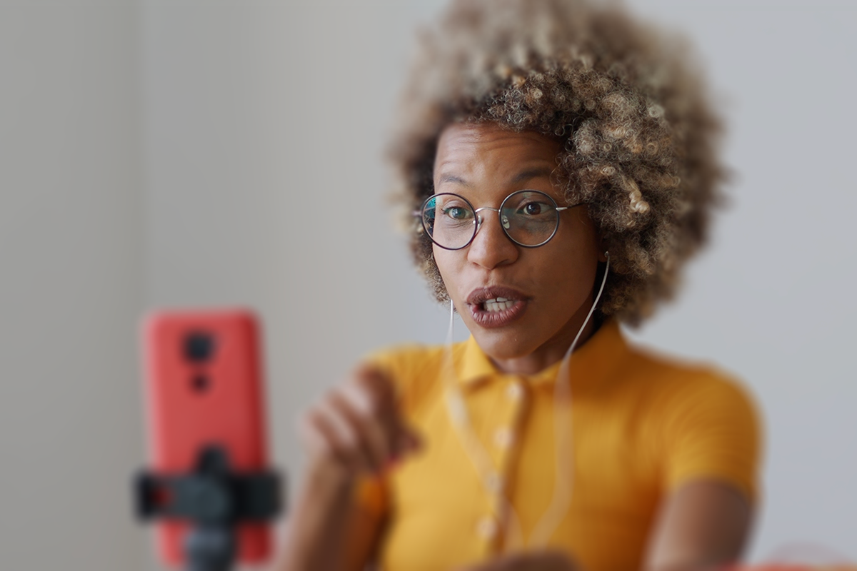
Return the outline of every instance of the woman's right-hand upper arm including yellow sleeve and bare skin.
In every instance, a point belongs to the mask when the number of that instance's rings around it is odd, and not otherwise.
[[[752,526],[761,429],[740,384],[704,375],[678,385],[660,437],[668,492],[649,533],[643,568],[684,571],[736,562]]]

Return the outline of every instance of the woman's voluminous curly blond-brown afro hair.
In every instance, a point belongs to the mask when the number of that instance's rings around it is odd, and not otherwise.
[[[721,123],[683,39],[616,4],[457,0],[418,45],[389,154],[438,300],[446,288],[411,212],[434,193],[437,141],[452,122],[563,141],[554,181],[569,204],[588,204],[610,252],[602,315],[636,325],[673,296],[725,173]]]

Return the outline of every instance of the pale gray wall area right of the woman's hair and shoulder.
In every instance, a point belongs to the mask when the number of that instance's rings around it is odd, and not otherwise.
[[[768,451],[753,555],[857,561],[857,4],[634,5],[686,29],[704,53],[736,172],[685,295],[642,337],[714,360],[755,391]]]

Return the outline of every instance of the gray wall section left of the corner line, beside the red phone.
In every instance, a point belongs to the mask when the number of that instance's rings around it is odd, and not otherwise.
[[[0,3],[0,568],[140,568],[132,3]]]

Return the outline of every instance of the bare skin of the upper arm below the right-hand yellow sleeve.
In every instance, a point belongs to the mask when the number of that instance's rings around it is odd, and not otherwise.
[[[735,562],[750,532],[752,508],[734,486],[696,479],[661,505],[645,571],[685,571]]]

